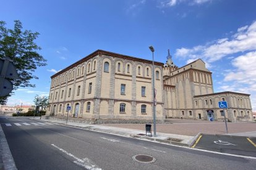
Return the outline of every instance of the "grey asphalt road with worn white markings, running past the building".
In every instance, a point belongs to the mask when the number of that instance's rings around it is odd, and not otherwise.
[[[241,170],[256,167],[255,159],[202,152],[73,127],[38,124],[28,118],[0,117],[0,123],[18,169]],[[134,161],[132,157],[139,154],[153,156],[155,162]]]

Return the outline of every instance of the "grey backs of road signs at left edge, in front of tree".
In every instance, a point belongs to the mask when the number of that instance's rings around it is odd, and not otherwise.
[[[12,82],[9,79],[18,79],[19,75],[9,57],[0,59],[0,71],[0,96],[5,96],[13,89]]]

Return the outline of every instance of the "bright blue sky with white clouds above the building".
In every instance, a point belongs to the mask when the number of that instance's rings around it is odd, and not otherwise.
[[[168,49],[182,67],[196,59],[213,73],[214,91],[251,94],[256,110],[256,1],[247,0],[0,0],[0,20],[20,20],[38,31],[46,67],[35,88],[20,88],[9,105],[33,104],[48,95],[50,76],[88,54],[105,51],[166,62]]]

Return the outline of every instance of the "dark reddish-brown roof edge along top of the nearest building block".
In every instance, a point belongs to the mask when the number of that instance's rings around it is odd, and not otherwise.
[[[83,63],[83,62],[91,59],[92,57],[95,57],[96,55],[100,55],[100,56],[101,55],[109,55],[109,56],[118,57],[118,58],[121,58],[121,59],[130,59],[130,60],[135,60],[135,61],[138,61],[138,62],[144,62],[144,63],[150,63],[150,64],[152,63],[152,60],[140,59],[140,58],[137,58],[137,57],[131,57],[129,55],[117,54],[117,53],[114,53],[114,52],[103,51],[101,49],[98,49],[95,52],[93,52],[92,54],[89,54],[86,57],[83,57],[83,59],[73,63],[72,65],[69,65],[68,67],[66,67],[63,70],[59,71],[58,73],[54,74],[53,76],[51,76],[51,78],[54,78],[58,75],[61,75],[61,73],[64,73],[65,71],[69,70],[70,68],[73,68],[73,67],[79,65],[80,63]],[[155,65],[160,65],[160,66],[164,65],[161,62],[154,62],[154,64]]]

